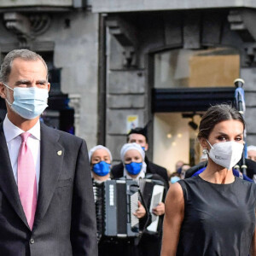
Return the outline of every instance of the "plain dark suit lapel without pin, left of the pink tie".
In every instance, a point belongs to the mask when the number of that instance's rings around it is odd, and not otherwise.
[[[9,200],[10,205],[29,228],[23,207],[20,202],[18,187],[15,182],[14,173],[9,159],[9,151],[3,133],[3,123],[0,124],[0,188]]]

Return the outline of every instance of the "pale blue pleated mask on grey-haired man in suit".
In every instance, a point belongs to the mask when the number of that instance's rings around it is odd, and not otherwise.
[[[15,113],[18,113],[24,119],[35,119],[48,107],[48,90],[37,87],[15,87],[15,89],[12,89],[7,84],[4,85],[10,90],[14,90],[14,102],[11,104],[5,99],[6,102]]]

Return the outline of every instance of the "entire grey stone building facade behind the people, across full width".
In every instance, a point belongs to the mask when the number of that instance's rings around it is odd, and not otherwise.
[[[26,47],[46,58],[56,77],[46,117],[73,119],[89,148],[119,160],[129,127],[148,124],[149,158],[173,171],[178,158],[199,160],[196,125],[210,104],[234,100],[236,78],[256,144],[254,2],[3,0],[0,57]]]

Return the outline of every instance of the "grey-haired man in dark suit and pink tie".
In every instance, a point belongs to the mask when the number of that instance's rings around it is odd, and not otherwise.
[[[8,111],[0,124],[0,254],[96,256],[86,143],[39,122],[49,86],[40,55],[27,49],[6,55],[0,73]]]

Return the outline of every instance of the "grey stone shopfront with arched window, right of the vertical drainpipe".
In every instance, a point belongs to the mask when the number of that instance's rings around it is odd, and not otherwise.
[[[105,115],[105,143],[113,151],[115,160],[119,159],[119,148],[125,143],[127,117],[135,115],[140,126],[152,121],[148,125],[151,144],[148,155],[154,161],[168,168],[171,162],[163,159],[172,159],[175,151],[183,155],[187,162],[193,164],[198,161],[199,155],[196,160],[189,156],[195,146],[195,137],[193,140],[191,136],[187,137],[190,141],[187,146],[180,140],[179,149],[174,150],[177,140],[174,141],[172,127],[169,132],[167,128],[160,131],[160,126],[167,127],[168,122],[175,126],[175,120],[170,120],[176,117],[175,113],[194,122],[196,118],[200,119],[210,104],[232,102],[235,91],[233,81],[237,78],[245,80],[247,144],[256,144],[256,28],[253,26],[256,3],[247,0],[95,0],[92,11],[102,15],[106,26],[106,51],[103,53],[107,56],[106,112],[102,114],[102,119]],[[188,66],[189,79],[174,80],[172,75],[167,74],[170,84],[161,84],[166,64],[162,65],[163,61],[157,58],[163,60],[165,55],[169,56],[169,61],[172,59],[167,73],[171,73],[172,64],[176,63],[179,69],[175,75],[182,77]],[[181,55],[189,55],[187,64]],[[202,55],[205,57],[201,58]],[[212,63],[207,62],[207,55],[211,55]],[[177,60],[173,60],[174,56]],[[210,66],[206,67],[209,68],[204,68],[201,61],[208,63],[206,65]],[[179,62],[185,64],[182,66]],[[212,73],[209,74],[212,81],[209,78],[204,80],[211,68]],[[159,73],[158,69],[161,69]],[[200,70],[205,72],[205,77]],[[215,82],[214,73],[221,74]],[[229,79],[225,77],[227,73]],[[158,123],[157,119],[160,119]],[[181,124],[180,131],[184,123]],[[196,128],[190,129],[190,135],[194,130]],[[166,137],[158,137],[157,131],[166,132]],[[176,136],[184,137],[184,133],[176,131]],[[168,138],[172,138],[170,143]],[[171,142],[173,148],[168,151]],[[170,169],[174,171],[172,167]]]

